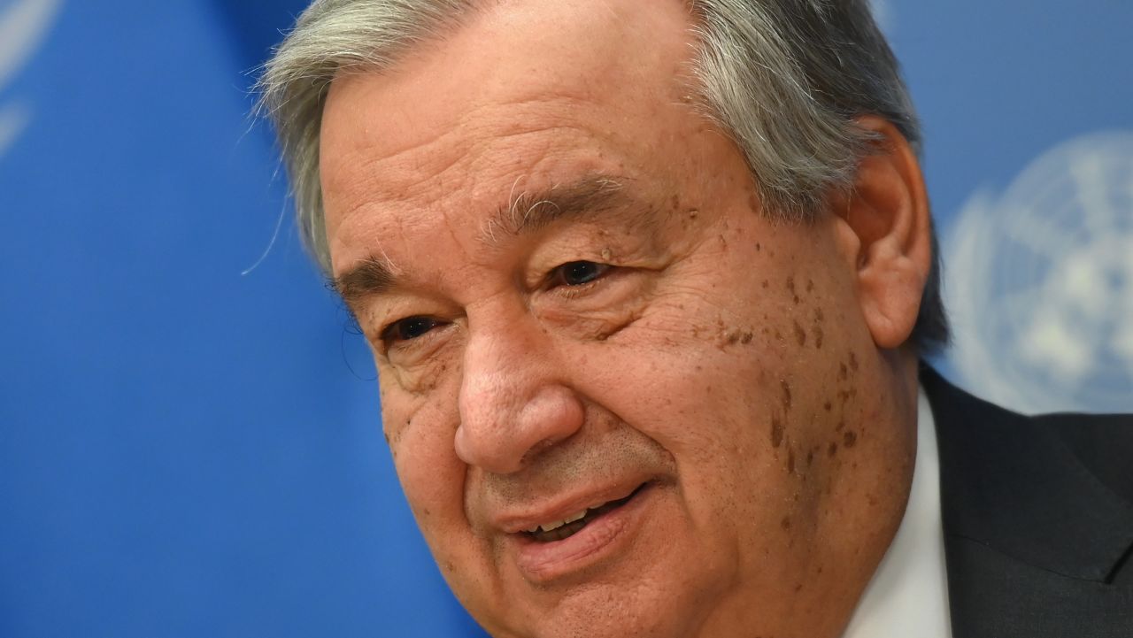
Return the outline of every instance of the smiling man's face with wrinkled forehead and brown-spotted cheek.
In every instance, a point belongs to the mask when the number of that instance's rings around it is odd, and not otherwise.
[[[334,272],[497,636],[833,635],[903,508],[838,219],[763,214],[691,44],[679,2],[513,2],[331,91]]]

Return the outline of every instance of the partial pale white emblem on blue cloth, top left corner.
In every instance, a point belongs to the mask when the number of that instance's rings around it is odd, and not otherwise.
[[[43,43],[62,0],[12,0],[0,8],[0,92]],[[24,102],[0,102],[0,155],[32,120]]]

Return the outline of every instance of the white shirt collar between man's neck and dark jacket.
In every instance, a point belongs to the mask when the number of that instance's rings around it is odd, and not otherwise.
[[[909,505],[842,638],[952,638],[947,582],[936,422],[921,389]]]

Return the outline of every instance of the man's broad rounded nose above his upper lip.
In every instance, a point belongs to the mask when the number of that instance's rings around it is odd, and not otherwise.
[[[512,474],[582,426],[583,407],[550,341],[536,325],[470,326],[454,441],[466,463]]]

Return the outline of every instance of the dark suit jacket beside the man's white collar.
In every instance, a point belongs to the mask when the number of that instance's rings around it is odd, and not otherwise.
[[[1133,417],[1025,417],[927,367],[921,384],[954,638],[1133,638]]]

